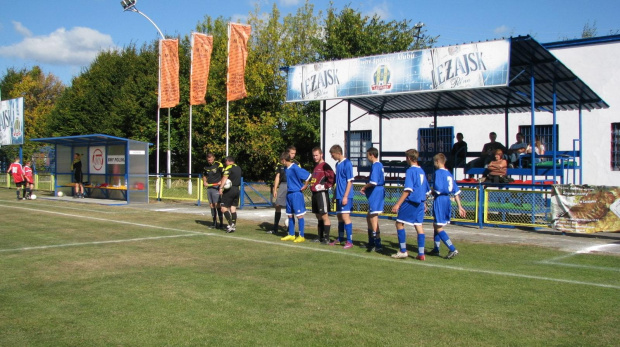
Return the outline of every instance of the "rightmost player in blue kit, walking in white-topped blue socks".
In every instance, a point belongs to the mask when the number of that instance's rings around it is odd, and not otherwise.
[[[443,228],[446,224],[450,223],[450,216],[452,215],[452,202],[450,201],[450,195],[454,195],[454,200],[459,208],[459,215],[465,217],[465,209],[461,206],[461,198],[459,194],[461,190],[454,182],[454,177],[450,174],[450,171],[446,169],[446,156],[439,153],[433,157],[435,164],[435,180],[433,181],[433,216],[435,220],[433,222],[434,229],[434,243],[435,247],[430,251],[429,255],[439,255],[439,245],[443,243],[448,246],[449,252],[446,259],[452,259],[459,251],[456,250],[448,233]]]

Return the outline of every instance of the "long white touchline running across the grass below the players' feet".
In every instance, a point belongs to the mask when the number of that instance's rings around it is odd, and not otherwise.
[[[32,210],[32,209],[28,209],[26,207],[20,207],[20,206],[12,206],[12,205],[9,205],[9,206],[3,205],[3,206],[6,207],[6,208]],[[272,245],[272,246],[290,247],[290,248],[306,250],[306,251],[339,254],[339,255],[344,255],[344,256],[349,256],[349,257],[356,257],[356,258],[362,258],[362,259],[367,259],[367,260],[372,260],[372,261],[380,260],[380,261],[386,261],[386,262],[391,262],[391,263],[401,263],[401,264],[415,265],[415,266],[426,266],[426,267],[433,267],[433,268],[439,268],[439,269],[464,271],[464,272],[480,273],[480,274],[495,275],[495,276],[507,276],[507,277],[514,277],[514,278],[534,279],[534,280],[540,280],[540,281],[549,281],[549,282],[558,282],[558,283],[567,283],[567,284],[578,284],[578,285],[585,285],[585,286],[591,286],[591,287],[620,289],[620,286],[612,285],[612,284],[583,282],[583,281],[575,281],[575,280],[568,280],[568,279],[562,279],[562,278],[552,278],[552,277],[545,277],[545,276],[526,275],[526,274],[518,274],[518,273],[504,272],[504,271],[493,271],[493,270],[482,270],[482,269],[468,269],[468,268],[459,267],[459,266],[433,264],[433,263],[427,263],[427,262],[422,262],[422,261],[397,260],[397,259],[392,259],[392,258],[387,258],[387,257],[380,258],[380,257],[377,257],[377,256],[369,256],[369,255],[364,255],[364,254],[352,253],[352,252],[348,252],[348,251],[344,251],[344,250],[338,250],[338,249],[315,248],[315,247],[302,246],[302,245],[298,245],[298,244],[294,244],[294,243],[289,243],[289,242],[282,242],[282,241],[280,241],[280,242],[273,242],[273,241],[257,240],[257,239],[242,237],[242,236],[234,236],[234,235],[231,235],[231,234],[206,233],[206,232],[199,232],[199,231],[192,231],[192,230],[183,230],[183,229],[177,229],[177,228],[161,227],[161,226],[157,226],[157,225],[148,225],[148,224],[126,222],[126,221],[110,220],[110,219],[90,217],[90,216],[69,215],[69,214],[66,214],[66,213],[53,212],[53,211],[39,211],[39,212],[45,212],[45,213],[57,214],[57,215],[69,216],[69,217],[93,219],[93,220],[99,220],[99,221],[105,221],[105,222],[111,222],[111,223],[119,223],[119,224],[140,226],[140,227],[153,228],[153,229],[159,229],[159,230],[171,230],[171,231],[177,231],[177,232],[185,232],[185,233],[189,233],[189,234],[193,234],[193,235],[216,236],[216,237],[227,238],[227,239],[231,239],[231,240],[235,240],[235,241],[246,241],[246,242],[252,242],[252,243],[262,243],[262,244],[267,244],[267,245]]]

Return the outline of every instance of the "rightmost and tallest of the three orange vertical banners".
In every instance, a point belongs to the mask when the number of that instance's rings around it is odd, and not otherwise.
[[[243,24],[229,23],[230,37],[228,38],[228,81],[227,101],[245,98],[245,64],[248,59],[248,39],[252,27]]]

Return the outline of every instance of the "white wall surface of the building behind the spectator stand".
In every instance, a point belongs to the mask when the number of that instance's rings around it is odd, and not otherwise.
[[[620,69],[614,59],[620,56],[620,42],[608,44],[590,44],[573,48],[561,48],[551,51],[570,70],[594,90],[610,106],[609,109],[582,112],[583,116],[583,183],[591,185],[617,186],[620,171],[612,171],[611,162],[611,123],[620,122]],[[327,134],[325,151],[333,144],[345,147],[347,131],[347,102],[328,100]],[[372,141],[380,151],[404,151],[417,148],[419,128],[433,126],[433,117],[398,118],[383,120],[382,148],[379,147],[379,118],[364,115],[365,111],[351,107],[351,131],[371,130]],[[463,133],[469,151],[479,152],[489,142],[488,134],[497,133],[497,140],[506,147],[515,142],[519,126],[531,125],[530,113],[512,113],[509,115],[508,134],[504,114],[482,116],[438,117],[437,126],[453,126],[454,133]],[[535,114],[536,125],[553,124],[553,115],[547,112]],[[559,127],[559,149],[571,150],[573,139],[579,138],[579,112],[557,112]],[[321,119],[321,129],[325,129]],[[508,137],[507,137],[508,136]],[[506,140],[508,138],[508,141]],[[346,149],[345,149],[346,153]],[[326,161],[335,162],[327,153]],[[460,171],[460,170],[459,170]],[[457,179],[462,177],[457,176]],[[572,178],[568,180],[572,182]],[[577,178],[578,183],[578,178]]]

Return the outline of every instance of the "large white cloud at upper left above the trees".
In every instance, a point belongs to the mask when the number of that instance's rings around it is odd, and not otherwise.
[[[20,33],[30,33],[21,24],[15,27]],[[0,46],[0,56],[52,65],[87,65],[100,51],[114,48],[112,37],[97,30],[59,28],[49,35],[29,36],[14,45]]]

